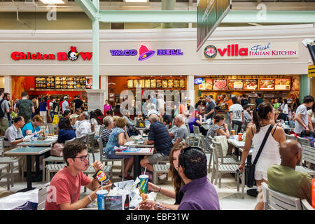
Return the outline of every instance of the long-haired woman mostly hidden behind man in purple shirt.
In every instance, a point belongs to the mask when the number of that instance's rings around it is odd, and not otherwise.
[[[155,186],[153,183],[148,182],[148,190],[151,190],[156,193],[161,193],[167,197],[171,197],[175,200],[174,204],[165,204],[161,202],[151,202],[146,200],[145,202],[140,203],[140,208],[145,210],[151,209],[171,209],[177,210],[181,200],[183,198],[183,193],[181,192],[181,187],[183,187],[184,182],[179,176],[179,154],[183,148],[188,147],[189,145],[185,141],[181,141],[179,144],[176,144],[172,150],[169,152],[169,176],[171,177],[171,184],[174,187],[174,190],[169,190],[166,188],[161,188]]]

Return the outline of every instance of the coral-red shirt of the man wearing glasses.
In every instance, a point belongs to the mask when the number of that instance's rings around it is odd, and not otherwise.
[[[68,169],[59,170],[50,181],[45,210],[61,210],[60,204],[74,203],[79,200],[81,186],[87,186],[91,182],[83,172],[73,176]]]

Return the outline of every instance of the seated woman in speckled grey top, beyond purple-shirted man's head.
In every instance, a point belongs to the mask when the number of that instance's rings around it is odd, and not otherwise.
[[[205,139],[207,150],[211,150],[211,139],[209,137],[214,138],[219,135],[224,135],[227,139],[230,138],[228,125],[225,124],[225,118],[223,115],[217,115],[214,117],[214,125],[212,125],[207,132],[207,137]]]

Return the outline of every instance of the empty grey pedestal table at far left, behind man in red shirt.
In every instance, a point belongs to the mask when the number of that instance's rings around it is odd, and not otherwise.
[[[31,187],[31,155],[43,155],[44,153],[50,151],[49,147],[22,147],[22,148],[13,148],[10,151],[5,152],[4,154],[9,156],[27,156],[27,188],[19,190],[18,192],[25,192],[28,190],[33,190]],[[37,164],[36,164],[37,166]]]

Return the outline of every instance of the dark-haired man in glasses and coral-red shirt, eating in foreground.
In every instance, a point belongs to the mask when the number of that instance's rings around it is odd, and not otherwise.
[[[97,190],[101,190],[99,182],[90,179],[83,171],[89,167],[89,154],[83,142],[69,142],[64,146],[66,167],[59,170],[50,181],[45,202],[45,210],[78,210],[83,209],[97,198]],[[94,162],[95,172],[103,169],[102,162]],[[79,200],[81,186],[92,190],[90,195]],[[103,186],[111,190],[111,184]]]

